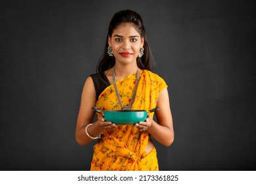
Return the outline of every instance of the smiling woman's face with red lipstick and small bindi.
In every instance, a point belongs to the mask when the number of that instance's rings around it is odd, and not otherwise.
[[[136,58],[143,47],[144,39],[136,30],[133,23],[119,24],[109,37],[109,46],[112,47],[116,62],[129,64],[136,62]]]

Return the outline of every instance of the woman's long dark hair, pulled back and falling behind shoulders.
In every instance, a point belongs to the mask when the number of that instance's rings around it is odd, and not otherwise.
[[[144,38],[144,54],[140,58],[137,58],[137,65],[140,69],[146,69],[151,71],[151,65],[153,64],[153,55],[150,51],[149,44],[147,43],[145,28],[143,26],[142,18],[140,14],[135,11],[125,10],[116,12],[111,19],[109,24],[109,32],[107,34],[107,40],[105,43],[105,49],[103,55],[99,59],[99,64],[97,66],[98,72],[105,72],[109,68],[115,65],[115,57],[110,57],[107,53],[107,47],[109,46],[108,40],[111,37],[115,28],[124,22],[131,22],[136,25],[136,30],[140,33],[141,38]]]

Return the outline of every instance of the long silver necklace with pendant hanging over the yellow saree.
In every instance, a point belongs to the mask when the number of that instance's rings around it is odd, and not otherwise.
[[[116,73],[115,73],[115,69],[114,68],[113,68],[113,71],[112,71],[112,75],[113,75],[113,81],[114,81],[114,86],[115,86],[115,91],[116,91],[116,97],[118,99],[118,102],[119,102],[120,106],[122,107],[122,110],[130,110],[132,104],[134,103],[134,99],[135,99],[136,91],[137,91],[137,87],[138,87],[138,81],[139,81],[139,78],[140,78],[140,70],[139,70],[139,68],[138,68],[137,74],[136,74],[134,90],[132,91],[132,99],[130,101],[130,104],[127,105],[127,106],[123,106],[122,105],[120,94],[119,94],[119,91],[118,91],[117,85],[116,85]]]

